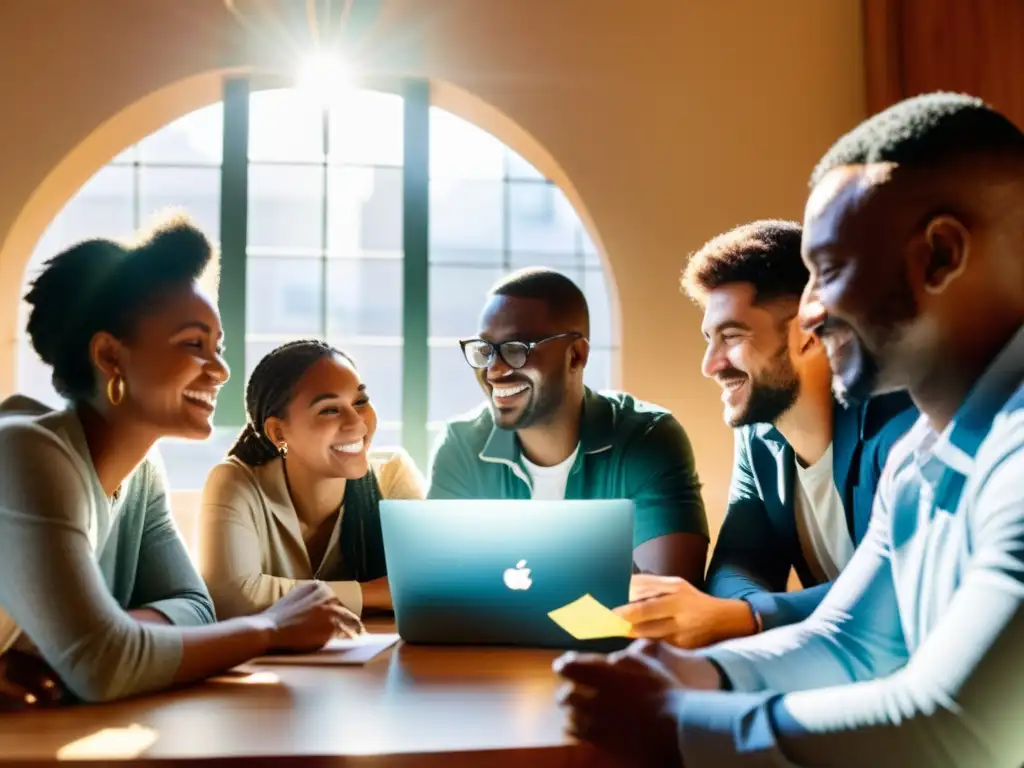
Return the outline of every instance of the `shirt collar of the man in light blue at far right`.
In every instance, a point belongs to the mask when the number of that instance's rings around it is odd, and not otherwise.
[[[962,475],[974,469],[974,458],[999,409],[1024,379],[1024,326],[975,382],[941,434],[922,416],[908,434],[919,459],[930,454]]]

